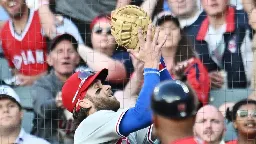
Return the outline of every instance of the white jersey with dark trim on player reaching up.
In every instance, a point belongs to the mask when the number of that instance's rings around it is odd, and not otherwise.
[[[119,133],[119,124],[127,110],[100,110],[84,119],[75,131],[74,144],[147,144],[152,143],[151,127],[131,133]]]

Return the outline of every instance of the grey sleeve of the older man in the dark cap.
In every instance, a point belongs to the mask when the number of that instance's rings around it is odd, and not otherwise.
[[[42,81],[41,81],[42,82]],[[57,110],[53,93],[47,89],[39,81],[32,86],[31,91],[33,99],[34,111],[42,118],[57,117]]]

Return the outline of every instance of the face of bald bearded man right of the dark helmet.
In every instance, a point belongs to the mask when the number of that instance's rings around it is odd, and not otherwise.
[[[215,107],[205,106],[196,115],[194,133],[209,142],[220,142],[224,133],[224,118]]]

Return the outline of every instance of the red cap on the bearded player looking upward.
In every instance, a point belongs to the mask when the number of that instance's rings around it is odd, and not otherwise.
[[[62,87],[62,102],[63,106],[73,112],[78,100],[85,97],[86,91],[94,80],[99,79],[104,81],[108,75],[107,69],[102,69],[97,73],[91,71],[79,71],[74,73]],[[79,110],[77,108],[76,110]]]

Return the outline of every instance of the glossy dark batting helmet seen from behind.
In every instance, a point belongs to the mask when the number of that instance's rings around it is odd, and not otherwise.
[[[196,98],[192,90],[179,80],[168,80],[154,89],[151,108],[155,114],[181,119],[196,114]]]

